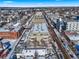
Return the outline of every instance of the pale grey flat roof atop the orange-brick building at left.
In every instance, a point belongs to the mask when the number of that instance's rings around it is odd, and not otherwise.
[[[0,27],[0,32],[17,32],[21,28],[20,23],[11,24],[8,23],[3,27]]]

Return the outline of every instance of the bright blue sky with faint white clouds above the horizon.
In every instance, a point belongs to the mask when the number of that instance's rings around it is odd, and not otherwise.
[[[0,7],[79,6],[79,0],[0,0]]]

